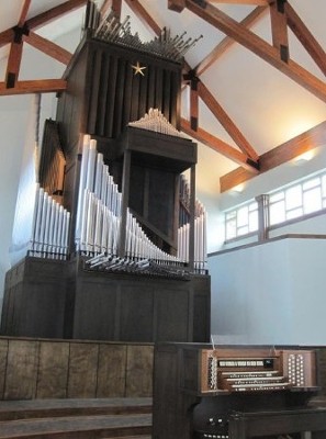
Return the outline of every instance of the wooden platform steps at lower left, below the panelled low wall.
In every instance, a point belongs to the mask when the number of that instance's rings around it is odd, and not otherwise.
[[[149,439],[151,398],[1,402],[0,421],[1,439]]]

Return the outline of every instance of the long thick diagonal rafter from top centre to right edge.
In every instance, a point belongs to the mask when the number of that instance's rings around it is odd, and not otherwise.
[[[173,0],[170,0],[173,2]],[[282,71],[315,97],[326,102],[326,85],[293,60],[284,63],[279,52],[265,40],[247,30],[231,16],[213,7],[205,0],[184,0],[187,8],[203,20],[237,41],[244,47]]]

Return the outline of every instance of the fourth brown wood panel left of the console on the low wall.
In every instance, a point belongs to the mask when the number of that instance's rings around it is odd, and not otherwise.
[[[68,342],[41,341],[36,398],[65,398],[68,368]]]

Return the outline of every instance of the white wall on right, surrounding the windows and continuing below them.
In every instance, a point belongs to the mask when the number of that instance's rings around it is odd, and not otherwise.
[[[321,146],[311,161],[279,166],[248,181],[241,193],[211,199],[215,250],[257,241],[255,236],[224,245],[224,209],[325,168],[326,146]],[[252,344],[325,345],[326,215],[277,228],[270,237],[285,234],[321,234],[325,239],[282,239],[209,258],[212,334]]]

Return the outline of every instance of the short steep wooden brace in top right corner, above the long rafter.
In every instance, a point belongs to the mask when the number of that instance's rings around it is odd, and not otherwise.
[[[289,2],[285,3],[285,12],[289,27],[311,55],[323,74],[326,75],[326,54],[323,47],[300,19],[294,9],[289,4]]]

